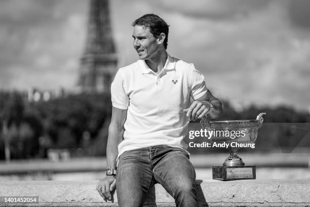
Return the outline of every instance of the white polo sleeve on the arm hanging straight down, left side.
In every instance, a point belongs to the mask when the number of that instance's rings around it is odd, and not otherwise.
[[[125,78],[121,70],[117,72],[111,84],[112,106],[126,110],[129,105],[129,97],[126,94]]]

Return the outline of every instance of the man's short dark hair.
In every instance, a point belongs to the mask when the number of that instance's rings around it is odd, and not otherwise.
[[[149,31],[153,34],[155,38],[158,38],[161,33],[165,33],[166,38],[164,40],[164,47],[167,49],[168,45],[168,33],[169,26],[165,20],[157,16],[156,14],[145,14],[142,17],[136,19],[132,26],[140,25],[148,27]]]

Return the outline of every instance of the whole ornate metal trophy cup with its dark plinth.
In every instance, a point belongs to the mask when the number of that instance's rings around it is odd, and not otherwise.
[[[204,129],[213,130],[211,143],[227,143],[229,156],[223,166],[213,166],[213,179],[217,180],[244,180],[255,179],[255,166],[245,166],[243,160],[237,155],[242,147],[249,147],[255,143],[258,129],[262,126],[263,115],[260,113],[252,120],[211,121],[201,120]],[[218,177],[218,178],[217,178]]]

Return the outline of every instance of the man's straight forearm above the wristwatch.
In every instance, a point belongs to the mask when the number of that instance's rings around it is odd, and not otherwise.
[[[106,167],[116,169],[119,154],[118,145],[123,140],[124,127],[109,126],[109,134],[106,146]]]

